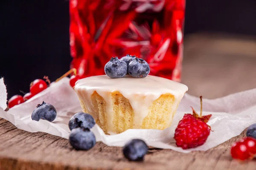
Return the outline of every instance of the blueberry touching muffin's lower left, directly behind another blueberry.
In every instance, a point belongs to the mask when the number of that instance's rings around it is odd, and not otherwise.
[[[95,125],[95,120],[93,119],[93,116],[83,112],[74,114],[74,116],[72,116],[70,118],[70,121],[68,122],[68,127],[70,128],[70,130],[75,129],[77,127],[90,129],[94,125]]]

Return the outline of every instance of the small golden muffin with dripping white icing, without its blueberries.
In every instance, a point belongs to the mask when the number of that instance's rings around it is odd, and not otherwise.
[[[93,76],[75,85],[82,110],[91,114],[106,134],[170,127],[187,90],[186,85],[155,76]]]

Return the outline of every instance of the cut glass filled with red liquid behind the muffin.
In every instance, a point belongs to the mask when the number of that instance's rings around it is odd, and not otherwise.
[[[131,54],[180,81],[184,11],[185,0],[70,0],[71,67],[102,75],[111,57]]]

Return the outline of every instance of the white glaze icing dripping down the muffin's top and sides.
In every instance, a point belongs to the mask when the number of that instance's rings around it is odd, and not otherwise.
[[[155,76],[147,76],[142,79],[133,78],[129,75],[120,79],[111,79],[106,75],[93,76],[80,79],[75,85],[76,93],[87,106],[90,114],[94,115],[93,105],[90,100],[94,91],[105,100],[109,134],[113,133],[112,92],[119,91],[129,100],[131,107],[134,110],[134,128],[140,128],[143,119],[148,115],[148,109],[154,100],[158,99],[162,94],[174,95],[175,102],[173,103],[172,108],[173,111],[175,111],[187,90],[188,87],[186,85]],[[170,114],[170,116],[172,116],[172,114]],[[172,119],[169,120],[172,121]]]

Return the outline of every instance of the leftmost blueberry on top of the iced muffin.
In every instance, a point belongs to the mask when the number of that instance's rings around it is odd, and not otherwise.
[[[105,65],[104,70],[108,77],[122,78],[127,74],[127,64],[117,57],[111,57],[110,61]]]

